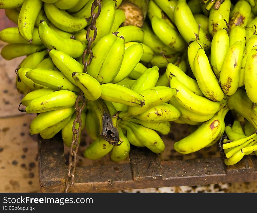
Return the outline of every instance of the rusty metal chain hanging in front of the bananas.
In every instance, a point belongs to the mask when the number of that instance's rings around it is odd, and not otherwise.
[[[95,9],[98,7],[97,13],[94,13]],[[91,63],[93,58],[93,52],[91,50],[92,42],[95,41],[97,35],[97,28],[95,27],[96,18],[100,15],[101,12],[101,2],[100,0],[94,0],[91,6],[91,25],[88,26],[86,32],[86,39],[88,41],[87,48],[84,50],[82,55],[82,63],[84,64],[83,72],[87,72],[87,67]],[[93,37],[89,37],[90,32],[93,31]],[[88,57],[89,56],[89,57]],[[87,58],[87,59],[86,59]],[[70,145],[70,156],[69,156],[69,167],[66,177],[66,189],[65,192],[69,192],[70,187],[74,184],[74,172],[77,161],[77,152],[79,149],[79,132],[81,131],[82,121],[81,121],[81,113],[86,105],[86,99],[84,98],[84,94],[82,90],[79,90],[79,95],[75,102],[76,109],[76,118],[74,119],[72,126],[72,143]],[[76,129],[76,124],[79,123],[78,129]]]

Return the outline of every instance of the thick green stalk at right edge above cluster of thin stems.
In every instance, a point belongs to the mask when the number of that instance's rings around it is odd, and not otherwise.
[[[253,102],[241,88],[228,98],[228,107],[236,110],[248,120],[254,129],[257,129],[257,109],[253,108]]]

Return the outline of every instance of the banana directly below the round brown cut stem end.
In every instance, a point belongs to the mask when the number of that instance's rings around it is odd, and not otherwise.
[[[123,36],[125,39],[125,43],[129,41],[136,41],[142,43],[144,40],[144,31],[140,27],[134,25],[127,25],[123,27],[119,27],[117,29],[117,36]]]

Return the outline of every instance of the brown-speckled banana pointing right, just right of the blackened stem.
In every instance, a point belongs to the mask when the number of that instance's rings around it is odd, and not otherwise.
[[[181,113],[177,107],[169,103],[159,104],[142,114],[134,116],[142,121],[174,121],[181,116]]]

